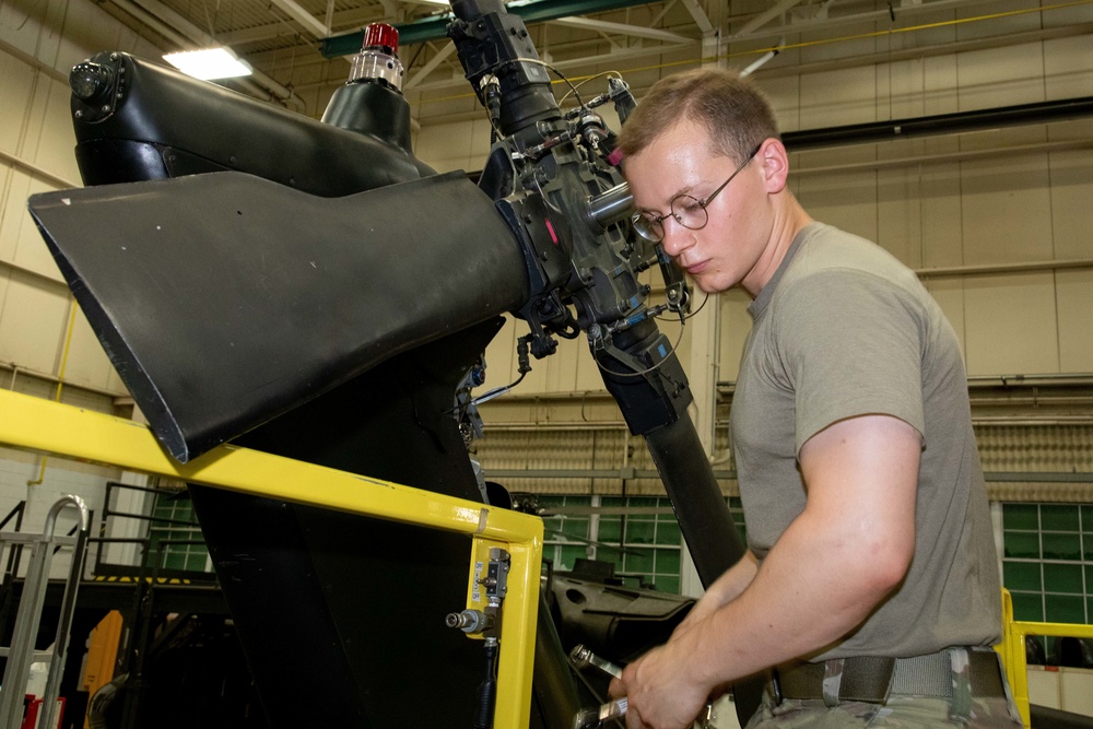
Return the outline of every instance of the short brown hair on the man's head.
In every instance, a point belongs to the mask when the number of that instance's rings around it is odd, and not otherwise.
[[[780,138],[771,102],[754,83],[736,71],[707,67],[653,84],[623,125],[619,150],[635,155],[684,119],[706,128],[710,152],[737,161],[764,139]]]

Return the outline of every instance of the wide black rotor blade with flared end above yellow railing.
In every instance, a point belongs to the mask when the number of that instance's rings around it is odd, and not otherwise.
[[[183,462],[528,297],[516,239],[462,173],[344,198],[216,173],[36,195],[30,208]]]

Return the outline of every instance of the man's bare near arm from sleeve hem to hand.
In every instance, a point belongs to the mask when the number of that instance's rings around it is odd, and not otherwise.
[[[620,685],[627,727],[685,727],[714,687],[815,654],[859,625],[900,584],[915,548],[921,439],[889,415],[841,421],[801,449],[802,514],[754,579]]]

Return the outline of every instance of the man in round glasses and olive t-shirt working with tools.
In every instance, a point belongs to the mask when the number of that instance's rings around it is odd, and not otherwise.
[[[914,273],[814,222],[769,104],[712,69],[620,139],[634,225],[753,318],[731,427],[749,553],[626,667],[631,729],[690,727],[767,671],[751,726],[1014,727],[1000,587],[956,336]],[[767,724],[771,722],[771,724]]]

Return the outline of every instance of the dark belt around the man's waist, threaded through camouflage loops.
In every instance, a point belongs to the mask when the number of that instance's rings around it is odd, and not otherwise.
[[[1006,696],[998,656],[989,648],[967,648],[973,696]],[[842,661],[842,667],[837,661]],[[883,704],[890,695],[951,698],[951,650],[910,658],[856,656],[822,663],[795,663],[775,670],[772,690],[781,698],[822,699],[825,675],[838,674],[841,702]]]

